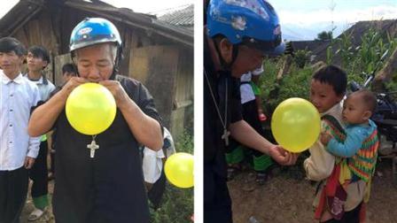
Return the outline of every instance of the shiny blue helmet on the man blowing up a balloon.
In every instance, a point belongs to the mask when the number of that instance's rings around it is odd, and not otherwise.
[[[121,36],[113,23],[102,18],[86,18],[72,31],[70,36],[70,51],[81,49],[90,45],[115,42],[121,50]]]

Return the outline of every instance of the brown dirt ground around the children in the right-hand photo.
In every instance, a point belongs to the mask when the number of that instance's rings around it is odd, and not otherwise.
[[[263,186],[255,184],[252,171],[245,171],[229,182],[235,223],[316,222],[312,201],[315,185],[304,179],[299,166],[282,170]],[[391,159],[378,162],[370,203],[368,223],[397,223],[397,186],[392,183]]]

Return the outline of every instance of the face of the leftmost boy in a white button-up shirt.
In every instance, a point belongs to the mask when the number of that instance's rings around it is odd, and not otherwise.
[[[14,51],[0,52],[0,66],[7,77],[13,79],[20,73],[20,65],[23,63],[23,56],[18,56]]]

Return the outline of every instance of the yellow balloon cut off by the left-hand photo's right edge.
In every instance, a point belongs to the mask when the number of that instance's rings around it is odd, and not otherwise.
[[[193,162],[191,154],[177,152],[167,158],[164,170],[167,180],[178,188],[191,188],[194,185]]]

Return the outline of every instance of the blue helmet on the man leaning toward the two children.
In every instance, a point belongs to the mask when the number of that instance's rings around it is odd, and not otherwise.
[[[210,37],[223,35],[232,44],[264,53],[272,53],[281,42],[278,16],[266,0],[211,0],[206,22]]]

